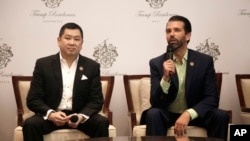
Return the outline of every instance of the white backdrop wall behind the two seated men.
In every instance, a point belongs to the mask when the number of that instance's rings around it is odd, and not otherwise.
[[[58,2],[56,5],[54,2]],[[1,0],[0,1],[0,137],[11,141],[16,125],[12,75],[32,75],[37,58],[58,52],[62,24],[76,22],[84,31],[81,53],[92,59],[97,47],[115,47],[118,56],[102,75],[114,75],[111,99],[118,136],[129,135],[122,75],[148,74],[149,59],[165,52],[165,24],[173,14],[190,19],[189,48],[218,46],[217,72],[223,72],[220,108],[241,123],[235,74],[250,73],[249,0]],[[158,1],[160,2],[160,0]],[[47,5],[46,5],[47,3]],[[53,8],[52,8],[53,7]],[[13,55],[6,50],[11,50]],[[8,60],[10,59],[10,60]]]

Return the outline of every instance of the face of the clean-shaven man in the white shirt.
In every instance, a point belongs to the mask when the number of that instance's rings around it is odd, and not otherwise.
[[[82,49],[83,38],[78,29],[65,29],[57,39],[63,57],[76,57]]]

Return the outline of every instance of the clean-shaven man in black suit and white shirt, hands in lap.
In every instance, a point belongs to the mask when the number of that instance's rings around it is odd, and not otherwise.
[[[83,31],[75,23],[61,27],[59,53],[36,61],[27,96],[35,113],[23,125],[24,141],[42,141],[57,129],[76,128],[90,137],[108,136],[109,121],[98,114],[104,102],[100,65],[80,55]],[[72,116],[78,120],[70,120]]]

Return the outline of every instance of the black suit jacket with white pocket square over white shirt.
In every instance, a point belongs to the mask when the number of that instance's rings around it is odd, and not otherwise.
[[[82,75],[87,77],[81,80]],[[62,98],[62,73],[59,53],[36,61],[27,106],[37,114],[56,110]],[[73,86],[72,111],[88,116],[98,113],[103,105],[100,65],[79,55]]]

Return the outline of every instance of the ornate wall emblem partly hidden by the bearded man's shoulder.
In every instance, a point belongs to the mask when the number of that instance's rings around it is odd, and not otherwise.
[[[220,56],[219,46],[213,42],[209,42],[208,40],[209,39],[206,39],[204,43],[200,43],[200,45],[198,45],[196,48],[197,51],[212,56],[215,62],[216,60],[218,60],[218,56]]]

